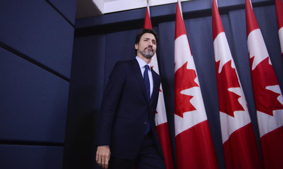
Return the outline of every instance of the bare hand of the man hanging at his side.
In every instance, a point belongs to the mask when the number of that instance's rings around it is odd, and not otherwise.
[[[96,163],[103,169],[107,169],[110,154],[110,148],[108,146],[98,146],[96,151]]]

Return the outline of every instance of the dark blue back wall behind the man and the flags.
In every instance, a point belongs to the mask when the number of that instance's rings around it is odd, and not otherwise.
[[[259,27],[263,34],[274,71],[277,75],[279,85],[283,89],[283,64],[274,1],[258,0],[252,2],[254,2],[254,12],[259,22]],[[183,2],[181,4],[217,160],[219,167],[224,169],[213,50],[211,3],[211,1],[198,0]],[[233,2],[219,0],[218,6],[230,50],[246,96],[251,121],[259,146],[259,130],[247,48],[244,0]],[[150,8],[153,29],[157,31],[160,38],[160,43],[157,47],[157,60],[162,77],[165,107],[174,157],[175,10],[176,4]],[[95,147],[92,143],[96,135],[93,133],[93,128],[90,128],[95,126],[103,90],[107,85],[108,76],[114,64],[117,61],[129,60],[135,57],[134,40],[136,33],[143,27],[144,14],[145,9],[137,9],[76,21],[65,139],[66,143],[69,143],[68,140],[70,140],[70,144],[68,144],[68,147],[65,146],[65,168],[70,168],[71,165],[86,165],[97,168]],[[81,94],[80,91],[84,94]],[[93,119],[89,120],[87,117]],[[70,124],[70,121],[73,124]],[[87,123],[83,124],[84,122]],[[74,126],[81,126],[82,124],[83,128],[81,130],[76,128],[74,130],[75,133],[71,133],[70,126],[73,125],[74,128]],[[84,134],[82,137],[79,137],[81,136],[79,133]],[[87,140],[88,145],[82,145],[80,141],[72,142],[71,138],[73,140]],[[78,152],[78,148],[90,145],[93,149],[84,151],[85,154],[80,153],[80,155],[75,155]],[[67,151],[69,153],[66,153]],[[86,159],[78,160],[78,156],[85,156]]]

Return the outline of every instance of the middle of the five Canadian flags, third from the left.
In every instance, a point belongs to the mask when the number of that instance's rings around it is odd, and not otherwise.
[[[236,66],[212,0],[212,29],[221,134],[226,168],[262,168],[262,162]]]

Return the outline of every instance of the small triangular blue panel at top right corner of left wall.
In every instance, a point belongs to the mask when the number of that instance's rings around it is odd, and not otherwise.
[[[77,0],[47,0],[64,15],[68,21],[75,25]]]

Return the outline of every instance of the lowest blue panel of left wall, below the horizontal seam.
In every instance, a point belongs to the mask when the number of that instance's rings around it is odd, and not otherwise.
[[[0,145],[3,169],[62,169],[63,147]]]

